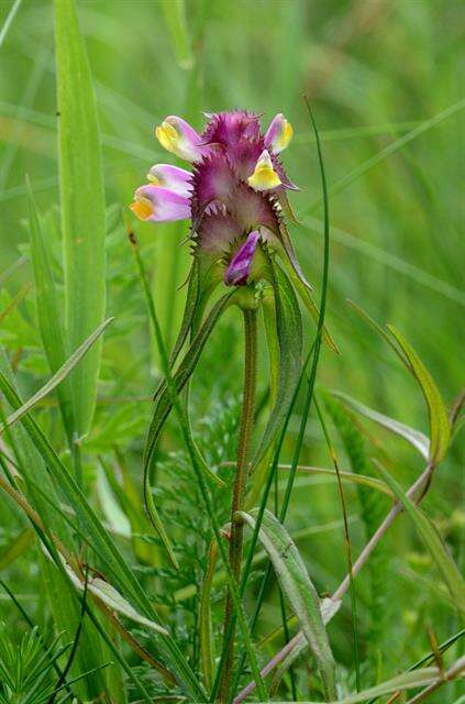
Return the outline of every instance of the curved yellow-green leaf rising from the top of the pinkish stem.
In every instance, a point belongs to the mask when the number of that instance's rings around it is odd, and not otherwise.
[[[451,439],[451,426],[447,418],[447,411],[442,400],[438,386],[434,383],[430,372],[418,356],[411,344],[407,342],[405,337],[396,330],[394,326],[387,326],[389,332],[399,343],[403,354],[409,361],[411,372],[418,381],[423,393],[424,400],[428,406],[430,417],[430,438],[431,447],[429,460],[433,464],[438,464],[444,459],[449,441]]]

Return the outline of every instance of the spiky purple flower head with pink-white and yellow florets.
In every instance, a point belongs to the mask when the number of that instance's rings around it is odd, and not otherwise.
[[[196,255],[218,264],[228,286],[259,278],[257,250],[284,252],[300,275],[283,221],[286,190],[296,189],[278,154],[292,128],[277,114],[262,134],[259,118],[243,110],[207,114],[201,134],[178,117],[166,118],[155,134],[168,152],[192,164],[151,168],[150,184],[131,206],[142,220],[191,220]],[[263,257],[258,257],[263,260]]]

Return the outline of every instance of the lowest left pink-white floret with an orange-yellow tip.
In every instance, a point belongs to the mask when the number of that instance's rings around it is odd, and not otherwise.
[[[162,186],[137,188],[130,208],[140,220],[151,222],[174,222],[190,218],[189,198]]]

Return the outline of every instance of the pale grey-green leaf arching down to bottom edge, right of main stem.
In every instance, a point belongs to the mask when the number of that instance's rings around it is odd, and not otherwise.
[[[241,512],[240,516],[254,529],[257,513],[258,509],[248,514]],[[335,698],[335,663],[321,616],[320,598],[299,551],[283,524],[268,510],[263,515],[258,539],[313,651],[325,698]]]

